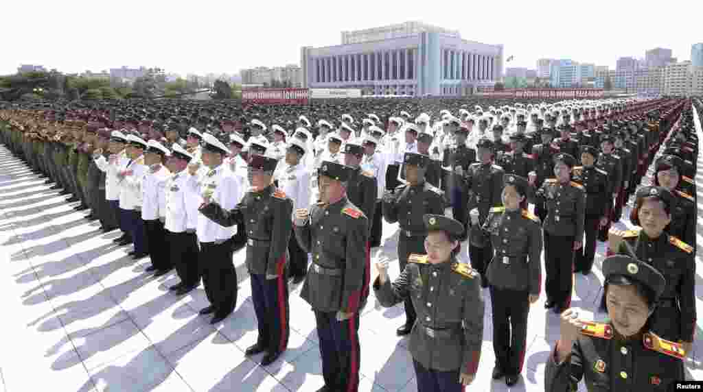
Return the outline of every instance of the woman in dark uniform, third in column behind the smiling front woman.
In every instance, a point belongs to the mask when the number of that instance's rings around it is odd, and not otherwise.
[[[546,309],[562,313],[571,304],[574,251],[583,244],[586,191],[571,181],[576,159],[566,153],[554,156],[556,178],[545,180],[534,192],[537,203],[545,203],[547,216],[543,224],[544,265],[547,274]]]

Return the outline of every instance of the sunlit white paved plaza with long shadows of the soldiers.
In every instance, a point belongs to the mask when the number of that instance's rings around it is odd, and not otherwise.
[[[699,183],[703,182],[701,165],[699,159]],[[323,385],[314,315],[299,297],[302,285],[290,288],[288,351],[262,367],[262,355],[244,356],[256,339],[244,250],[234,255],[239,280],[236,311],[224,323],[209,325],[209,317],[198,316],[198,310],[208,304],[202,285],[176,297],[167,290],[179,281],[175,272],[152,278],[144,271],[148,258],[133,261],[127,256],[131,247],[112,243],[118,231],[98,231],[99,223],[84,219],[86,212],[76,212],[72,209],[76,203],[65,198],[0,146],[3,391],[314,392]],[[700,213],[703,208],[698,208]],[[626,208],[623,216],[628,213]],[[616,226],[629,225],[624,221]],[[699,218],[697,227],[700,237],[703,219]],[[396,224],[385,223],[383,245],[372,250],[373,258],[396,255],[396,231]],[[599,243],[593,273],[576,275],[572,301],[572,306],[597,320],[602,319],[602,314],[593,313],[600,301],[604,253],[605,244]],[[696,263],[699,313],[703,310],[700,255]],[[461,257],[467,261],[466,243]],[[398,276],[397,262],[392,262],[390,274]],[[491,306],[488,290],[483,292],[481,363],[467,391],[543,391],[545,362],[559,336],[558,316],[543,309],[544,292],[531,308],[522,379],[512,388],[502,380],[491,380]],[[359,330],[360,391],[417,390],[408,339],[395,334],[404,317],[402,304],[384,309],[371,293]],[[699,380],[703,379],[701,325],[699,321],[694,352],[686,366],[688,377]],[[583,385],[581,389],[585,390]]]

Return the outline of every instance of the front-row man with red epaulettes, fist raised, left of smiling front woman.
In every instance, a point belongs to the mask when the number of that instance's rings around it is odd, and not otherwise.
[[[295,213],[295,238],[313,264],[300,297],[315,312],[325,386],[319,391],[359,388],[359,316],[369,282],[368,218],[346,196],[349,168],[323,161],[320,202]]]

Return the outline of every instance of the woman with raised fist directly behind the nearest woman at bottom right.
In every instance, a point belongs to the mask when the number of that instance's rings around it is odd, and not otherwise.
[[[689,351],[696,329],[693,249],[664,231],[671,222],[674,203],[669,191],[643,187],[636,196],[630,220],[642,229],[617,232],[611,236],[610,248],[621,255],[634,255],[666,278],[666,288],[652,315],[652,331],[664,339],[682,342]]]

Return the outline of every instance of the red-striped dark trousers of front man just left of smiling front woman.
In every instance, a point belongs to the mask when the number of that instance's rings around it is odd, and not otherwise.
[[[337,312],[315,311],[325,386],[329,391],[359,391],[359,312],[338,321]]]

